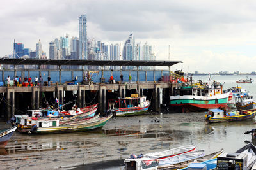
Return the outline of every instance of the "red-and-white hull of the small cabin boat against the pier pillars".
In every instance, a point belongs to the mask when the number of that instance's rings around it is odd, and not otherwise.
[[[150,104],[140,108],[140,107],[132,107],[132,108],[118,108],[116,109],[116,117],[125,117],[125,116],[134,116],[134,115],[142,115],[148,111]]]

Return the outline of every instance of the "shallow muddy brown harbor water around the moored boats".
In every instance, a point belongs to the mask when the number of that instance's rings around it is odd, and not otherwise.
[[[256,80],[256,76],[250,76]],[[249,76],[248,76],[249,78]],[[224,89],[236,86],[246,76],[212,76]],[[193,76],[207,81],[208,76]],[[255,82],[256,83],[256,82]],[[256,85],[239,84],[256,95]],[[205,112],[148,112],[136,117],[111,118],[97,131],[70,134],[28,135],[15,132],[6,148],[0,149],[0,169],[124,169],[132,153],[150,153],[183,145],[197,145],[205,154],[223,148],[236,152],[251,141],[255,120],[207,124]],[[0,127],[8,127],[4,122]]]

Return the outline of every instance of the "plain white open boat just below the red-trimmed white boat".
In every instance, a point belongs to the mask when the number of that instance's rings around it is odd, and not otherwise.
[[[168,157],[166,159],[160,159],[159,166],[172,165],[186,162],[192,159],[197,159],[204,156],[204,150],[196,150],[193,152],[184,153],[174,157]]]

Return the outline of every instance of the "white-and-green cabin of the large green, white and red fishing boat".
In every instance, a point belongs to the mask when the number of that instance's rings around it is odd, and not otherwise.
[[[223,94],[222,86],[218,85],[216,87],[180,87],[179,89],[174,89],[174,96],[214,96],[216,94]]]

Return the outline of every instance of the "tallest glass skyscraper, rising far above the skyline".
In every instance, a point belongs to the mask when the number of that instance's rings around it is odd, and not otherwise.
[[[86,15],[79,17],[79,59],[87,59],[87,18]]]

